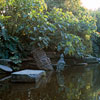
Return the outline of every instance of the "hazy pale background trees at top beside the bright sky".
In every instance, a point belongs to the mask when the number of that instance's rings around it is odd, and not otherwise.
[[[80,9],[80,0],[45,0],[48,10],[52,10],[53,7],[62,8],[64,11],[70,11],[77,13]]]

